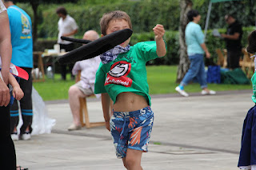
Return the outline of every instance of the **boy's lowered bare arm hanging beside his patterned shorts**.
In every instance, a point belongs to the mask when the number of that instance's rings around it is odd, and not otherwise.
[[[108,93],[102,93],[102,110],[106,129],[110,131],[110,96]]]

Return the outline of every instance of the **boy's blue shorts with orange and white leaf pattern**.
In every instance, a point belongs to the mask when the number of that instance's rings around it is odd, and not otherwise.
[[[126,157],[127,148],[147,152],[153,121],[150,106],[134,112],[114,112],[110,130],[118,158]]]

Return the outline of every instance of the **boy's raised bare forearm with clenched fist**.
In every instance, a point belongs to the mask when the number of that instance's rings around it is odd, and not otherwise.
[[[163,57],[166,55],[166,43],[163,41],[162,37],[165,34],[165,29],[162,25],[157,24],[154,26],[154,36],[155,42],[157,43],[157,54],[158,57]]]

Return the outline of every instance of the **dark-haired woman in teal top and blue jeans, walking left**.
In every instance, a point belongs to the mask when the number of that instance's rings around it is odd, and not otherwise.
[[[190,69],[186,73],[180,85],[175,90],[182,94],[184,97],[188,97],[189,94],[185,92],[184,86],[188,85],[190,81],[196,78],[202,88],[202,95],[215,94],[213,90],[207,88],[206,84],[206,73],[204,64],[204,53],[206,57],[210,58],[210,53],[204,42],[204,35],[202,29],[198,25],[200,22],[201,15],[198,14],[197,10],[190,10],[187,14],[190,23],[186,26],[185,38],[187,45],[187,54],[190,58]]]

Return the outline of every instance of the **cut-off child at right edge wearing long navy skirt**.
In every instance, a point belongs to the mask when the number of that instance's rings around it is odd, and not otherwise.
[[[249,45],[247,51],[249,53],[256,53],[256,30],[254,30],[248,37]],[[252,101],[256,104],[256,57],[254,55],[254,75],[251,77],[253,84]],[[240,156],[238,160],[238,167],[241,169],[256,170],[256,105],[252,107],[245,118],[242,128],[242,143]]]

